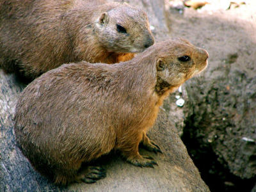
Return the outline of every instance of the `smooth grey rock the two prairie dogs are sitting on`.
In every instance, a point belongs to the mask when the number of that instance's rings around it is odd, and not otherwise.
[[[156,28],[156,40],[163,40],[168,35],[163,1],[129,3],[145,8]],[[4,74],[0,69],[0,191],[209,191],[188,156],[171,118],[168,118],[172,113],[170,107],[161,110],[149,134],[163,150],[163,155],[150,154],[159,166],[154,169],[138,168],[124,162],[118,154],[110,154],[99,161],[107,170],[106,179],[95,184],[72,184],[67,188],[54,186],[33,170],[15,143],[12,117],[15,102],[24,86],[13,74]],[[167,100],[166,106],[168,102],[171,101]],[[182,121],[182,116],[179,119]],[[141,151],[141,154],[148,152]]]

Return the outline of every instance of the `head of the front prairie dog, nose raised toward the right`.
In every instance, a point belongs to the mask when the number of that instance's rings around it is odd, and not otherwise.
[[[157,50],[157,81],[170,86],[180,86],[207,67],[208,52],[182,38],[161,42]]]

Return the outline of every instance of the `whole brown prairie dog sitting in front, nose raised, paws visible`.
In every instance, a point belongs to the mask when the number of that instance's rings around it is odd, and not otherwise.
[[[147,150],[161,152],[146,135],[163,99],[207,66],[208,53],[181,38],[152,45],[132,60],[107,65],[61,65],[20,95],[15,135],[31,164],[57,184],[95,182],[99,167],[81,170],[111,150],[129,163],[153,167]]]

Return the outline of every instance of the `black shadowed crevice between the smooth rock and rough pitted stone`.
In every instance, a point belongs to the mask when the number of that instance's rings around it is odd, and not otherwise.
[[[230,173],[228,164],[216,155],[211,143],[205,143],[200,127],[195,127],[191,115],[185,121],[182,141],[188,149],[189,156],[193,159],[202,179],[212,192],[241,192],[252,191],[256,177],[241,179]]]

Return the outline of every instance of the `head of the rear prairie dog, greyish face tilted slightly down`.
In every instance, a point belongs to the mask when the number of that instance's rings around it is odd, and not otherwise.
[[[147,14],[127,3],[118,3],[101,13],[95,32],[108,51],[142,52],[154,44]]]

